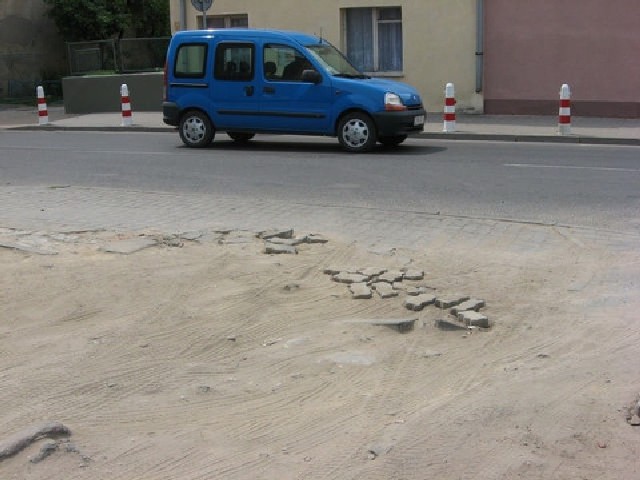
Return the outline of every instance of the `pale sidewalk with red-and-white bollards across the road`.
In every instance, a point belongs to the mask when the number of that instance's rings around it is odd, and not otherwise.
[[[0,130],[76,130],[171,132],[161,112],[133,111],[133,126],[122,127],[117,112],[68,115],[64,107],[48,108],[49,125],[38,125],[35,107],[0,105]],[[442,113],[427,115],[421,138],[447,140],[498,140],[513,142],[559,142],[640,146],[640,119],[572,117],[571,135],[558,135],[557,118],[529,115],[457,114],[456,131],[442,132]]]

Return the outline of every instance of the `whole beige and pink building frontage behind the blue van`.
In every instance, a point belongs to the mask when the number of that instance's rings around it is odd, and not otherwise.
[[[172,30],[277,28],[322,35],[361,70],[418,88],[431,112],[457,108],[640,117],[638,0],[215,0],[206,21],[170,0]]]

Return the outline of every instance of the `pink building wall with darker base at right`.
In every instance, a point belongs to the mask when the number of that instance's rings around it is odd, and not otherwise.
[[[640,0],[485,0],[487,113],[640,117]]]

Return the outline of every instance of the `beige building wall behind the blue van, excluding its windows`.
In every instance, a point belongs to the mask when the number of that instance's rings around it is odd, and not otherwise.
[[[186,27],[196,28],[199,14],[189,0]],[[171,0],[172,30],[180,29],[180,0]],[[444,87],[453,82],[458,109],[481,111],[475,94],[475,0],[215,0],[209,15],[248,14],[249,27],[320,34],[344,50],[340,9],[402,7],[404,71],[398,80],[415,86],[428,111],[440,112]]]

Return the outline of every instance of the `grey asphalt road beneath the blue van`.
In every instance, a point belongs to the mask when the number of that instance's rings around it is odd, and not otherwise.
[[[343,153],[335,139],[0,132],[0,185],[223,195],[640,233],[637,147],[409,139]]]

